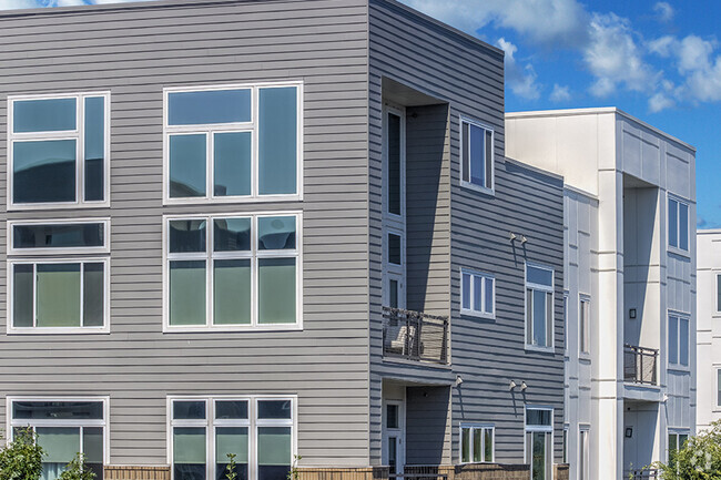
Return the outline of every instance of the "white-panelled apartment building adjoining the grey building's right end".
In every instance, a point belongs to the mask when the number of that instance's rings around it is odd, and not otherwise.
[[[649,478],[695,430],[695,151],[618,109],[506,114],[563,176],[571,479]]]

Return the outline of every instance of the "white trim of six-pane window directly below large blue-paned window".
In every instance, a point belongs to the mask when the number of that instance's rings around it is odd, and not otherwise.
[[[264,253],[257,255],[257,218],[266,216],[295,216],[295,242],[296,249],[291,252]],[[170,261],[171,259],[197,259],[210,262],[213,258],[222,259],[223,253],[213,253],[213,221],[217,218],[251,218],[251,252],[235,253],[225,258],[244,258],[251,259],[251,265],[257,265],[257,258],[272,258],[272,257],[295,257],[296,263],[296,279],[295,279],[295,324],[258,324],[257,323],[257,276],[255,275],[256,268],[252,267],[251,274],[251,324],[250,325],[213,325],[212,309],[213,309],[213,289],[212,289],[212,265],[206,263],[205,275],[205,325],[197,326],[171,326],[170,325]],[[167,248],[170,245],[170,222],[175,219],[197,219],[204,218],[207,221],[207,241],[206,252],[204,253],[189,253],[189,254],[169,254]],[[163,215],[163,333],[189,333],[189,331],[294,331],[303,330],[303,212],[301,211],[278,211],[278,212],[245,212],[245,213],[222,213],[222,214],[192,214],[192,215]]]

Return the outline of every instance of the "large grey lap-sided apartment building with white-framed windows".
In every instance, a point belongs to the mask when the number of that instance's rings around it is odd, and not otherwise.
[[[505,157],[500,50],[390,0],[3,12],[0,44],[0,421],[45,479],[562,471],[568,196]]]

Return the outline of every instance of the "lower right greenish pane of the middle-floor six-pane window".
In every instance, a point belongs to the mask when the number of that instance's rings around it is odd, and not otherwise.
[[[258,323],[295,324],[295,258],[261,258]]]

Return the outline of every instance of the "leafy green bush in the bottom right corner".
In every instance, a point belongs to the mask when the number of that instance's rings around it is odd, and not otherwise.
[[[721,480],[721,420],[689,438],[668,463],[651,467],[659,469],[663,480]]]

